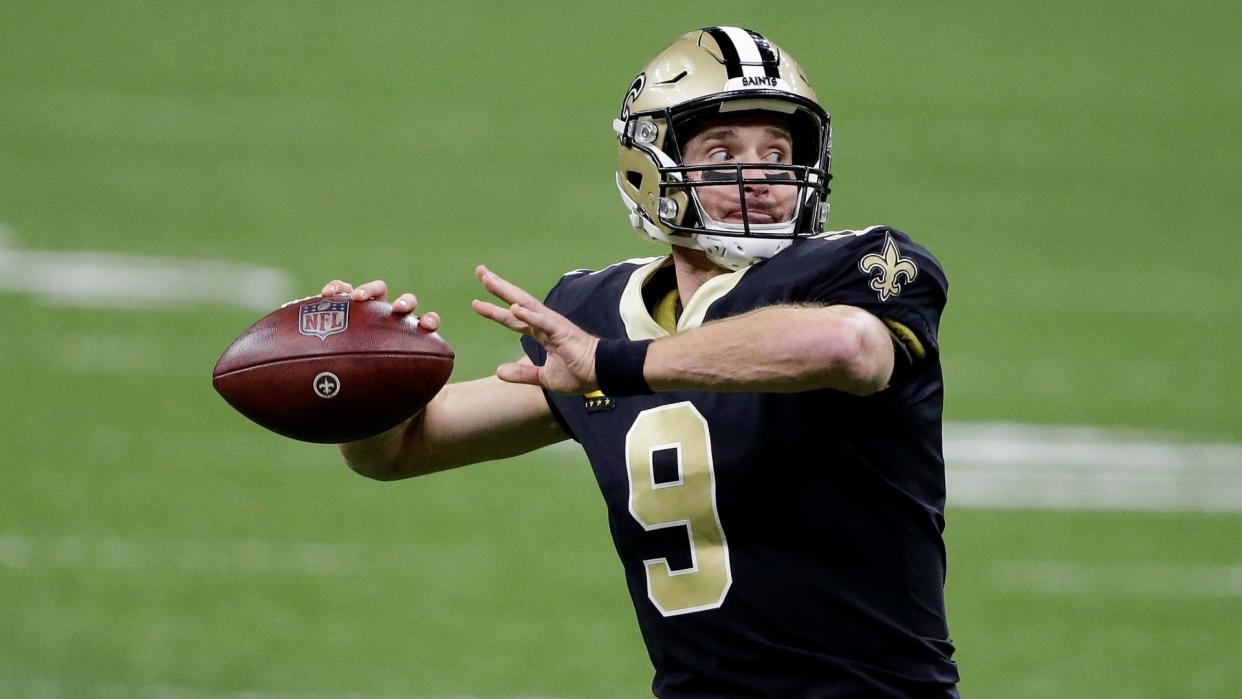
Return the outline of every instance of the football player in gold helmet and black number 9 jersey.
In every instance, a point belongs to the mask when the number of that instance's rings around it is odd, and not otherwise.
[[[958,697],[939,263],[887,226],[825,231],[830,117],[754,31],[678,38],[614,130],[630,222],[664,255],[570,272],[543,300],[479,266],[501,303],[473,309],[524,356],[345,462],[396,479],[579,442],[657,697]]]

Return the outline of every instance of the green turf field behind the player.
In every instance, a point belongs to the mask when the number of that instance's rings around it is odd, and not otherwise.
[[[481,376],[519,350],[469,313],[474,264],[542,291],[657,252],[610,120],[710,24],[818,87],[832,227],[940,257],[949,420],[1242,442],[1227,2],[0,0],[0,261],[219,259],[298,295],[381,277]],[[0,697],[647,693],[573,449],[373,483],[211,391],[262,298],[89,304],[133,279],[21,291],[24,269],[0,264]],[[1242,514],[951,503],[964,695],[1242,687]]]

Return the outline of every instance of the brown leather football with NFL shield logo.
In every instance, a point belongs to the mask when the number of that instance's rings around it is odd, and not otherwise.
[[[265,315],[220,356],[211,385],[268,430],[304,442],[373,437],[448,381],[453,350],[380,300],[310,297]]]

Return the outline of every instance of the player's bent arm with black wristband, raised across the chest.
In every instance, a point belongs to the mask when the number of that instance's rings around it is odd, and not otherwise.
[[[483,286],[509,303],[476,300],[481,315],[533,336],[548,350],[543,366],[505,364],[497,376],[556,392],[601,387],[623,379],[653,390],[806,391],[868,395],[884,389],[895,353],[887,327],[850,305],[779,305],[709,323],[641,346],[601,340],[529,293],[479,267]],[[625,395],[626,391],[615,395]]]

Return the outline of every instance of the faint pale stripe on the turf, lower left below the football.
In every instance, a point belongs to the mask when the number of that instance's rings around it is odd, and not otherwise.
[[[349,549],[333,544],[0,535],[0,569],[47,567],[309,576],[342,575],[360,569],[356,556]]]

